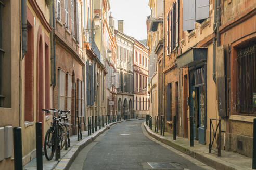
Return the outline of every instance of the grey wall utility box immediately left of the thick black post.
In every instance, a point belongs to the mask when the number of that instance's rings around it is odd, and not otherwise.
[[[10,158],[13,150],[14,136],[12,132],[12,126],[5,126],[5,158]]]

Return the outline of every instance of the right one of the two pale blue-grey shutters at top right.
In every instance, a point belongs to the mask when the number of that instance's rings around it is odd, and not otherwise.
[[[209,0],[196,0],[196,21],[209,17]]]

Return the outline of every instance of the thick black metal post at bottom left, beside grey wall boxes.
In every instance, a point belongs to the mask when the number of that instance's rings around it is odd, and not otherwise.
[[[14,169],[22,169],[21,127],[14,127]]]

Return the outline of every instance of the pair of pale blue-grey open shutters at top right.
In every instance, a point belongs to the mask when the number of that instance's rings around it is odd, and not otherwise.
[[[183,0],[183,30],[194,30],[195,21],[208,17],[209,0]]]

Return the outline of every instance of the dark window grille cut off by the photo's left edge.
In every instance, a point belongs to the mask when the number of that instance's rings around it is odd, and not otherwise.
[[[3,8],[4,3],[0,1],[0,107],[4,106],[4,94],[3,94]]]

